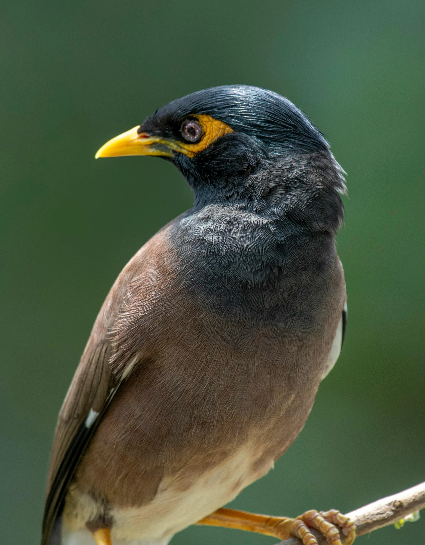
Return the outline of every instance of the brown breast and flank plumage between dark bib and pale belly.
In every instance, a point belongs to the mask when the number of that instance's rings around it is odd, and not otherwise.
[[[226,320],[181,288],[179,257],[160,250],[114,327],[115,360],[138,362],[76,475],[81,492],[114,505],[149,501],[164,476],[184,488],[248,440],[258,463],[282,455],[311,410],[345,300],[336,257],[314,328]]]

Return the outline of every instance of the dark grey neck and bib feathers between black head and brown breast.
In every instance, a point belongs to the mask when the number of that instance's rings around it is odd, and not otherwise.
[[[341,167],[330,153],[276,159],[233,187],[198,190],[171,229],[185,288],[239,317],[310,312],[335,268]]]

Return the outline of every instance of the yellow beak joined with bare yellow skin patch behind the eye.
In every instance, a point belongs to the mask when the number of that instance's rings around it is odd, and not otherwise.
[[[218,119],[205,114],[193,115],[202,126],[201,140],[196,143],[168,140],[160,136],[150,136],[147,132],[138,134],[138,126],[106,142],[96,153],[99,157],[121,157],[124,155],[153,155],[172,157],[175,152],[194,157],[208,148],[218,138],[234,130]]]

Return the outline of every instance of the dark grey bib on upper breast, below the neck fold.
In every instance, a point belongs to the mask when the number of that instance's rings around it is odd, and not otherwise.
[[[226,205],[189,211],[168,236],[185,289],[210,311],[254,322],[311,314],[337,259],[329,233]]]

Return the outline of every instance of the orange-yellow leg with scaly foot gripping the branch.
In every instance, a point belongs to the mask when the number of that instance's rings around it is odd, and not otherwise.
[[[302,540],[303,545],[318,545],[317,539],[309,528],[319,530],[330,545],[342,545],[337,525],[342,529],[343,534],[347,535],[344,545],[351,545],[356,537],[353,521],[335,509],[320,513],[315,510],[306,511],[299,517],[290,518],[269,517],[264,514],[222,508],[199,520],[197,524],[247,530],[274,536],[282,541],[295,536]]]

